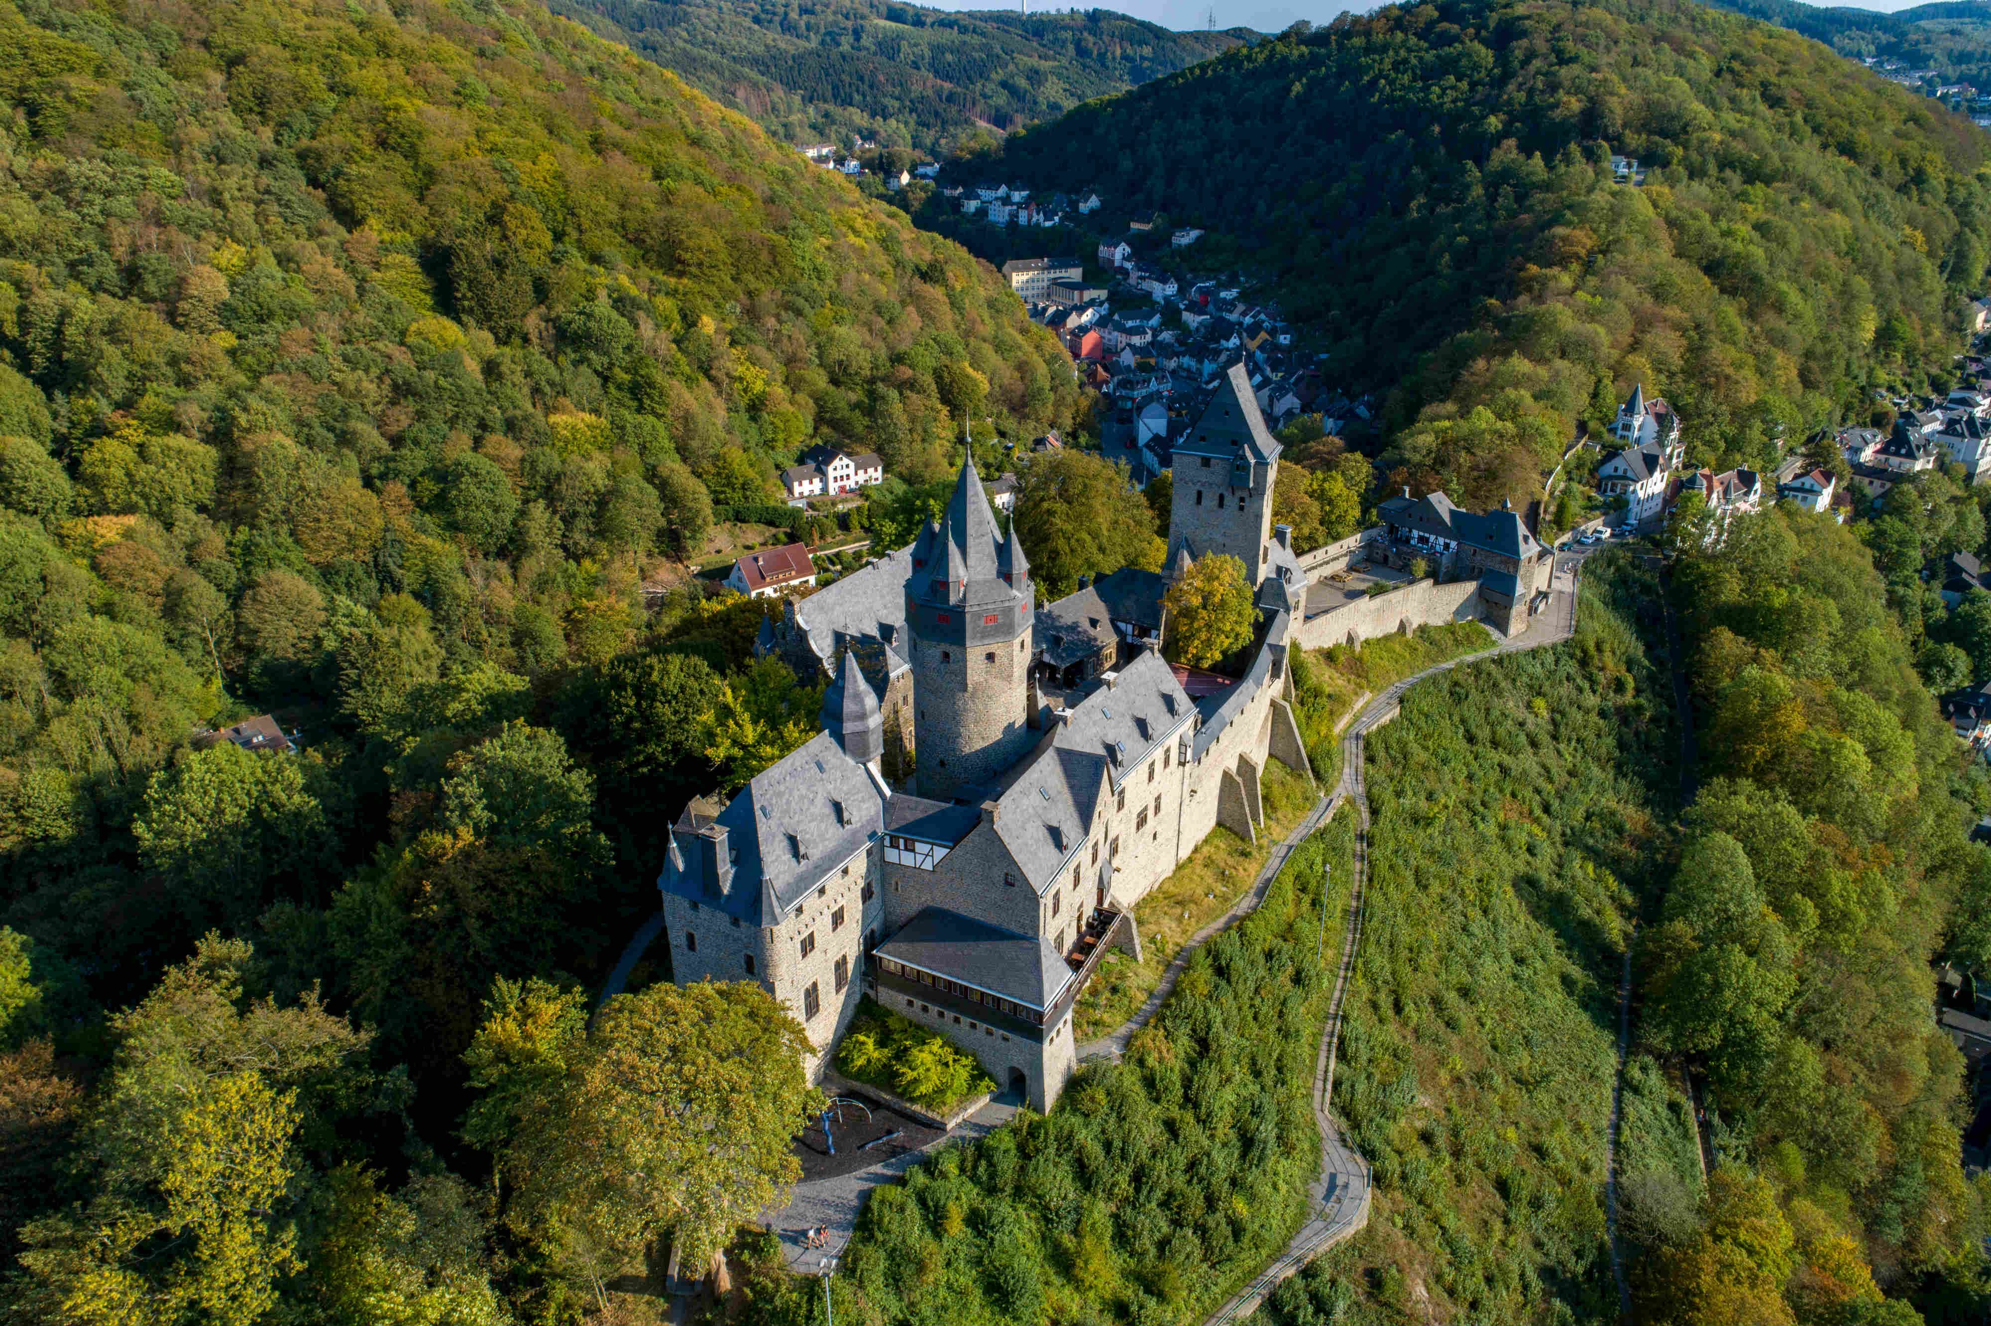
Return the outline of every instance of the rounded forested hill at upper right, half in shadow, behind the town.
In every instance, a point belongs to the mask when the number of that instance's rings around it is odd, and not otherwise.
[[[1485,506],[1635,380],[1720,464],[1864,416],[1874,378],[1921,386],[1991,255],[1987,143],[1690,0],[1445,0],[1087,104],[999,169],[1213,231],[1199,263],[1262,277],[1336,384],[1392,392],[1388,460]]]

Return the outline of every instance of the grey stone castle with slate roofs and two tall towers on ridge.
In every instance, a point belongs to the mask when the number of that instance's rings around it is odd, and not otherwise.
[[[1077,1067],[1079,992],[1109,948],[1139,948],[1133,904],[1217,824],[1256,836],[1268,759],[1310,774],[1286,667],[1308,575],[1272,526],[1278,452],[1234,368],[1175,450],[1171,575],[1121,571],[1105,597],[1101,581],[1039,613],[1023,548],[964,462],[912,548],[769,623],[763,655],[828,673],[824,731],[673,826],[657,884],[675,978],[771,990],[802,1021],[812,1073],[870,994],[1049,1109]],[[1071,703],[1045,701],[1039,621],[1093,611],[1103,633],[1109,599],[1159,603],[1173,573],[1215,553],[1258,575],[1242,679],[1193,699],[1143,631],[1115,621],[1117,667]],[[1445,611],[1465,613],[1453,597]],[[882,759],[908,711],[918,773],[900,790]]]

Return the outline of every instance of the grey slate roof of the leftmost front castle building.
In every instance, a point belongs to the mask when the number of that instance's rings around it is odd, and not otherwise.
[[[711,830],[673,832],[657,888],[749,926],[773,926],[884,832],[884,806],[870,771],[816,733],[713,816],[727,860],[717,858]]]

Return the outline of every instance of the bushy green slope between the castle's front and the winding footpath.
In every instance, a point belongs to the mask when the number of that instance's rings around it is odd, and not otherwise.
[[[1344,916],[1352,822],[1197,952],[1125,1063],[880,1189],[838,1320],[1195,1322],[1276,1256],[1320,1163],[1308,1089],[1334,956],[1318,948]]]

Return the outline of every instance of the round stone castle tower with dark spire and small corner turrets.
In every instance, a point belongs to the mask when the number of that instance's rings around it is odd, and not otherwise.
[[[1033,625],[1023,546],[1013,528],[996,536],[966,460],[946,516],[912,546],[906,581],[920,796],[948,800],[992,782],[1029,751]]]

